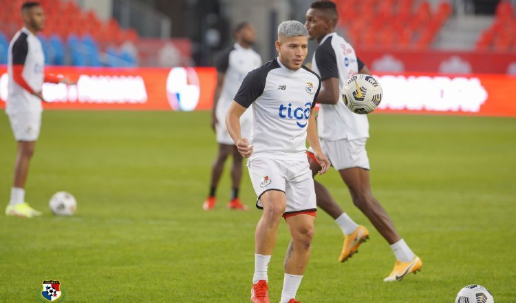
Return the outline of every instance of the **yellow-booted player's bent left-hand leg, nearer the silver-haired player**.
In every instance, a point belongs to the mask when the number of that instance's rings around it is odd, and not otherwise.
[[[319,165],[310,154],[308,156],[308,162],[310,163],[312,176],[316,176],[317,171],[321,169],[321,165]],[[317,206],[321,207],[323,211],[334,218],[335,223],[343,233],[344,242],[341,254],[338,255],[338,261],[345,262],[345,260],[357,253],[358,247],[369,238],[369,231],[364,226],[356,224],[356,222],[338,206],[337,202],[330,194],[330,191],[328,191],[324,185],[314,180],[314,187]]]

